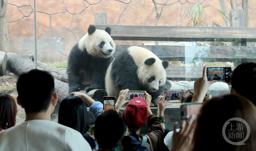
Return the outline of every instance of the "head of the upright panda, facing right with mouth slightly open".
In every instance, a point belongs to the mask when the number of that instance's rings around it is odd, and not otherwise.
[[[111,29],[96,30],[90,25],[88,33],[79,41],[79,48],[93,57],[108,58],[115,53],[115,43],[110,36]]]

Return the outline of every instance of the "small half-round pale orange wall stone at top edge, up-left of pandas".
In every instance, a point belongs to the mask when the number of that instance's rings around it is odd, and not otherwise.
[[[83,0],[63,0],[63,3],[70,14],[79,14],[85,9]]]

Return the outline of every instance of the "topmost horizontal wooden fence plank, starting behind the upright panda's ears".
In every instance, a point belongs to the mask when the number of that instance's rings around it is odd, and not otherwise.
[[[199,27],[199,26],[132,26],[95,25],[104,30],[111,27],[113,40],[146,41],[235,41],[247,38],[256,41],[256,28],[253,27]]]

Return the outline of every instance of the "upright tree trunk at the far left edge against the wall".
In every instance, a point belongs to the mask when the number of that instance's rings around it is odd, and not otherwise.
[[[8,0],[0,0],[0,51],[9,52],[7,32],[7,4]]]

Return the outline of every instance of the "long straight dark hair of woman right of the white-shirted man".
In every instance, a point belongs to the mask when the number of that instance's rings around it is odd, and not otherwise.
[[[86,102],[78,96],[64,98],[59,106],[58,123],[85,134],[88,128]]]

